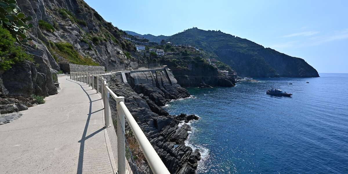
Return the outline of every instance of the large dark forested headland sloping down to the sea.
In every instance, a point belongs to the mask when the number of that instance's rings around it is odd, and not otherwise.
[[[202,48],[210,58],[230,65],[239,76],[319,77],[318,72],[301,58],[264,48],[250,40],[221,31],[205,31],[194,27],[174,34],[166,41]]]

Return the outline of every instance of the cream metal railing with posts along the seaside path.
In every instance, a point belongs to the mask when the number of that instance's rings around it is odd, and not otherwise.
[[[160,67],[164,68],[164,67]],[[151,68],[151,69],[160,69],[160,68]],[[127,106],[124,103],[124,97],[117,96],[109,88],[109,84],[101,76],[112,74],[112,72],[119,71],[130,71],[138,69],[122,69],[114,70],[110,72],[71,72],[70,78],[72,80],[80,81],[86,83],[88,86],[95,89],[97,93],[101,93],[103,104],[104,104],[104,119],[105,119],[105,128],[108,128],[113,125],[113,122],[110,117],[110,105],[109,97],[110,95],[116,101],[117,109],[117,163],[118,163],[118,173],[126,174],[129,173],[129,170],[126,171],[126,140],[125,140],[125,118],[128,121],[129,127],[132,129],[135,139],[137,140],[142,152],[151,168],[152,173],[154,174],[169,174],[167,167],[164,165],[163,161],[159,158],[155,149],[153,149],[151,143],[133,118],[132,114],[127,109]],[[147,69],[150,70],[150,69]],[[113,129],[113,128],[112,128]],[[114,131],[114,129],[113,129]],[[115,157],[116,158],[116,157]],[[129,168],[129,165],[128,165]]]

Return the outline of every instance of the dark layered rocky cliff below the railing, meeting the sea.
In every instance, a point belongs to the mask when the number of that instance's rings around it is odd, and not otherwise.
[[[191,127],[179,126],[181,121],[198,119],[194,115],[171,116],[161,107],[172,99],[184,98],[190,94],[180,85],[170,70],[135,72],[127,76],[129,84],[123,84],[117,78],[108,80],[110,89],[120,96],[125,96],[125,104],[150,140],[159,157],[170,173],[194,174],[200,160],[198,150],[185,146]],[[116,113],[116,102],[111,100],[112,112]],[[126,125],[129,130],[129,127]],[[135,152],[136,150],[134,150]],[[140,163],[141,161],[136,163]],[[143,163],[142,163],[143,164]],[[149,171],[139,169],[140,173]]]

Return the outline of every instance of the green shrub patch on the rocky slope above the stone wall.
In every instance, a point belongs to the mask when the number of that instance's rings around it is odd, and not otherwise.
[[[79,65],[99,65],[90,57],[82,57],[74,47],[67,42],[57,42],[54,45],[56,53],[71,63]]]

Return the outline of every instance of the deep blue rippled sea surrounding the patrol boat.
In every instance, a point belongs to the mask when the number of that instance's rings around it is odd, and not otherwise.
[[[165,109],[200,117],[185,142],[200,149],[198,174],[347,174],[348,74],[319,75],[187,88],[195,98]],[[267,95],[272,86],[293,95]]]

